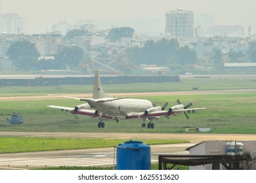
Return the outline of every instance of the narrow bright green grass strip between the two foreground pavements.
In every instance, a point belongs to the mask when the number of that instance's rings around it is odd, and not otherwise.
[[[123,144],[124,139],[76,139],[45,137],[1,137],[0,154],[9,152],[34,152],[45,150],[70,150],[85,148],[106,148]],[[146,144],[177,144],[188,141],[143,140]]]

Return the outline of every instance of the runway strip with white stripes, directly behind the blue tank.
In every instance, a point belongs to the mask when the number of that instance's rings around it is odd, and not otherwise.
[[[192,144],[152,145],[150,146],[151,161],[158,163],[159,154],[188,154],[184,148],[190,145]],[[116,148],[114,147],[0,155],[0,169],[37,169],[60,166],[114,167],[114,165],[116,165]]]

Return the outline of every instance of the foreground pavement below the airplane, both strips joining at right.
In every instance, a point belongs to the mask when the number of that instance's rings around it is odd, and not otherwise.
[[[186,148],[203,141],[256,141],[254,134],[191,134],[191,133],[47,133],[47,132],[4,132],[9,137],[70,137],[124,139],[182,139],[184,144],[151,145],[151,161],[158,163],[160,154],[188,154]],[[116,163],[116,148],[95,148],[82,150],[56,150],[47,152],[24,152],[0,154],[0,169],[37,169],[60,166],[108,166]]]

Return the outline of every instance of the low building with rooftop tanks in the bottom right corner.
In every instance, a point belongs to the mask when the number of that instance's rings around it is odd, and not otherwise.
[[[198,162],[211,161],[190,165],[190,170],[256,169],[256,141],[205,141],[186,150],[190,156],[202,156]]]

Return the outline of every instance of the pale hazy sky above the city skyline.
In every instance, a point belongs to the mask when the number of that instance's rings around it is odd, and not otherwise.
[[[242,25],[256,33],[255,0],[0,0],[1,12],[15,12],[26,20],[26,33],[45,33],[54,23],[85,19],[158,19],[178,7],[194,15],[209,13],[215,25]]]

